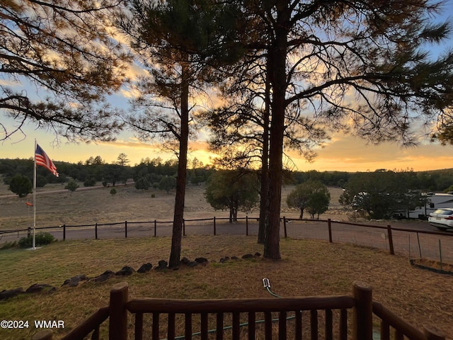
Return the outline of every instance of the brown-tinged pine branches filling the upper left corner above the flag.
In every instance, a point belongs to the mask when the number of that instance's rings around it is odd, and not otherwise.
[[[28,122],[69,140],[114,137],[120,125],[105,94],[119,89],[130,62],[110,30],[119,4],[1,1],[0,74],[6,81],[0,109],[7,119],[0,122],[0,140],[23,133]],[[24,84],[35,86],[39,96]]]

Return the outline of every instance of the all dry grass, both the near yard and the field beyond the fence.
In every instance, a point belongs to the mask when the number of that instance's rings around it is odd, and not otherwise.
[[[69,193],[45,193],[61,189],[61,185],[38,189],[38,227],[82,225],[93,222],[170,220],[173,195],[162,191],[136,191],[132,186]],[[282,212],[297,217],[299,212],[285,205],[292,186],[283,188]],[[219,216],[207,205],[202,186],[189,186],[185,218]],[[25,205],[28,198],[1,197],[9,192],[0,184],[0,229],[23,229],[31,225],[33,216]],[[151,193],[156,198],[151,198]],[[327,215],[340,215],[340,189],[331,188],[332,203]],[[257,214],[257,211],[251,213]],[[48,283],[55,293],[21,295],[0,302],[2,319],[62,319],[65,329],[57,331],[57,339],[82,322],[99,307],[108,304],[110,287],[125,278],[112,278],[106,283],[84,283],[77,288],[59,288],[71,276],[84,273],[97,276],[105,270],[118,271],[129,265],[137,270],[142,263],[154,265],[168,259],[171,239],[139,238],[57,242],[37,251],[8,249],[0,251],[0,290],[28,288],[33,283]],[[436,324],[453,334],[453,277],[414,268],[406,258],[390,256],[382,251],[352,245],[328,244],[307,240],[282,239],[281,261],[264,259],[219,263],[223,256],[239,256],[262,252],[255,237],[217,236],[185,237],[183,254],[189,259],[203,256],[208,266],[181,267],[178,271],[134,273],[127,277],[130,297],[222,298],[268,297],[262,279],[267,277],[278,295],[350,294],[352,282],[362,280],[374,288],[374,298],[408,322],[421,328]],[[6,331],[0,339],[30,339],[36,329]]]

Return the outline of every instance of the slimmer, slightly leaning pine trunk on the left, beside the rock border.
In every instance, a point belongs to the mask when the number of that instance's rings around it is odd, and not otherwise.
[[[183,218],[185,203],[185,182],[187,179],[187,153],[189,139],[189,81],[188,67],[182,65],[181,81],[181,112],[180,112],[180,136],[179,136],[179,159],[178,175],[176,176],[175,210],[173,213],[173,231],[171,235],[171,253],[169,267],[179,266],[181,255],[181,242],[183,238]]]

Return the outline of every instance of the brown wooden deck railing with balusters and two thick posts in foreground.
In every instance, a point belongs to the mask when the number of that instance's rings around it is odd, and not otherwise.
[[[309,316],[308,322],[303,313]],[[128,329],[130,314],[134,315],[135,340],[189,340],[195,335],[202,340],[257,339],[258,333],[258,339],[372,340],[373,316],[381,320],[382,340],[445,340],[441,331],[425,327],[421,332],[374,302],[372,289],[360,282],[353,284],[352,296],[226,300],[129,300],[127,283],[117,283],[110,290],[110,306],[98,310],[62,339],[83,340],[91,334],[92,340],[98,340],[100,325],[110,317],[108,339],[126,340],[132,333]],[[257,321],[259,318],[263,320]],[[52,333],[42,331],[33,340],[52,340]]]

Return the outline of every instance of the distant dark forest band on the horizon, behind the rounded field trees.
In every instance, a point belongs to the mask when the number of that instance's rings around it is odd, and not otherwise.
[[[117,183],[125,183],[127,179],[146,181],[149,188],[159,188],[162,179],[174,178],[178,170],[178,161],[169,159],[164,161],[160,157],[141,159],[134,166],[129,165],[126,154],[120,154],[117,160],[108,164],[101,156],[90,157],[85,162],[69,163],[55,162],[59,177],[53,176],[46,169],[38,166],[37,186],[43,187],[47,183],[66,183],[71,179],[83,182],[84,186],[94,186],[103,183],[104,186],[116,186]],[[187,183],[198,184],[209,179],[215,172],[212,166],[205,166],[200,160],[194,158],[189,162]],[[338,186],[346,188],[351,179],[372,178],[375,173],[394,173],[401,181],[407,183],[411,190],[426,192],[453,191],[453,169],[432,171],[412,170],[384,170],[365,172],[348,171],[285,171],[285,184],[300,184],[306,181],[320,181],[325,186]],[[33,181],[33,158],[30,159],[0,159],[0,175],[7,185],[13,176],[21,174]],[[146,189],[146,188],[139,188]],[[163,187],[166,189],[166,186]]]

